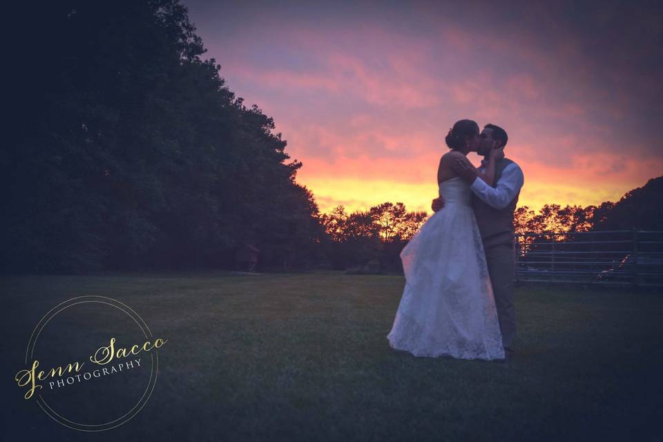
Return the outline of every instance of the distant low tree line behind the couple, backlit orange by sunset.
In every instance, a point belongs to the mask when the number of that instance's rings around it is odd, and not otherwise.
[[[321,220],[329,243],[325,253],[336,269],[355,267],[356,271],[401,271],[399,254],[407,241],[427,220],[425,212],[407,212],[402,203],[383,203],[367,211],[345,213],[337,206]],[[621,231],[644,229],[663,231],[663,177],[658,177],[642,188],[633,189],[618,202],[602,202],[595,206],[560,206],[546,204],[538,212],[521,206],[514,218],[515,232],[555,235],[555,242],[587,242],[571,244],[568,251],[614,250],[615,244],[590,244],[590,241],[624,240],[631,233],[611,233],[600,237],[574,235],[577,232]],[[530,250],[550,251],[552,235],[520,238],[521,254]],[[559,250],[564,246],[557,246]],[[561,247],[561,248],[560,248]],[[524,256],[524,255],[523,255]],[[373,266],[366,266],[374,262]],[[372,267],[372,268],[369,268]]]

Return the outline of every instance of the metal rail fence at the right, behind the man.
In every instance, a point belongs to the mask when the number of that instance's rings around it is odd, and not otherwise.
[[[663,231],[516,234],[515,279],[663,287]]]

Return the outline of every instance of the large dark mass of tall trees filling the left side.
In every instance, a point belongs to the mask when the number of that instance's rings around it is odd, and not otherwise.
[[[324,235],[273,119],[203,59],[177,0],[23,7],[0,156],[6,271],[314,256]],[[15,18],[16,18],[15,17]]]

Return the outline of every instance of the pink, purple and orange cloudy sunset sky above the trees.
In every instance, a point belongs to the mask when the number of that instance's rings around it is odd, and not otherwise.
[[[615,201],[663,175],[660,2],[182,3],[321,211],[430,213],[463,118],[506,129],[533,209]]]

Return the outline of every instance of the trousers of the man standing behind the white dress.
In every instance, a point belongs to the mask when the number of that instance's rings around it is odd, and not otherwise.
[[[492,293],[497,307],[499,329],[502,333],[502,344],[512,349],[513,338],[516,336],[516,309],[513,305],[513,280],[515,260],[513,244],[483,244],[486,251],[486,264],[492,282]]]

